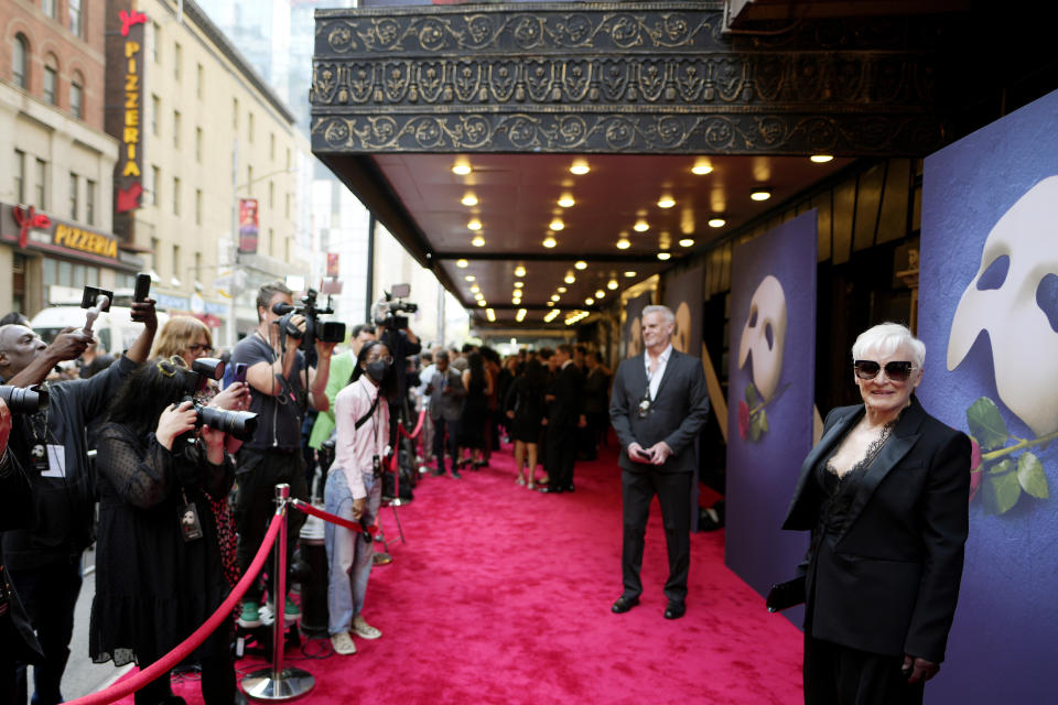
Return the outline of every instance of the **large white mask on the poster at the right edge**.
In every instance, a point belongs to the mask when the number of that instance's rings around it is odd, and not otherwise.
[[[948,369],[953,370],[987,332],[1000,399],[1036,435],[1058,431],[1056,223],[1058,176],[1050,176],[1018,198],[989,232],[948,338]]]

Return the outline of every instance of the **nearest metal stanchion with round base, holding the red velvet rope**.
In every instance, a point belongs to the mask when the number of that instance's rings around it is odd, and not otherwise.
[[[272,618],[272,665],[258,669],[242,679],[242,690],[255,701],[289,701],[304,695],[316,684],[307,671],[291,666],[283,668],[283,648],[287,646],[287,500],[290,498],[290,485],[276,486],[276,513],[282,514],[279,534],[276,536],[276,577],[272,584],[276,606]]]

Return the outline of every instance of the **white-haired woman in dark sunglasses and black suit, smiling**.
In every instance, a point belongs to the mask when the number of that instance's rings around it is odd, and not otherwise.
[[[921,703],[962,577],[970,440],[914,395],[926,347],[902,325],[852,347],[863,404],[834,409],[784,529],[811,531],[805,702]]]

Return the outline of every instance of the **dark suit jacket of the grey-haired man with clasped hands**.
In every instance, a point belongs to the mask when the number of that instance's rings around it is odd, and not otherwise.
[[[622,469],[633,471],[691,473],[698,467],[694,440],[709,417],[709,391],[702,361],[673,349],[658,386],[658,395],[651,402],[651,412],[639,417],[639,402],[647,389],[647,371],[643,356],[624,360],[614,373],[609,400],[609,420],[620,440]],[[634,463],[628,457],[628,444],[638,443],[649,448],[665,441],[672,455],[665,465]]]

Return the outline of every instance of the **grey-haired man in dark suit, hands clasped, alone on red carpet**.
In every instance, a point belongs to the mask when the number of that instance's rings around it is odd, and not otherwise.
[[[691,565],[691,489],[698,465],[694,441],[709,416],[702,362],[672,348],[676,316],[666,306],[643,310],[643,355],[617,368],[609,417],[620,440],[624,506],[624,593],[613,611],[639,604],[644,534],[650,500],[658,495],[669,552],[666,619],[683,616]]]

